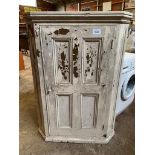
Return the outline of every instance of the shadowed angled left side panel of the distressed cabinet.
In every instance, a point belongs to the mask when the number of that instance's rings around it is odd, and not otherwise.
[[[39,40],[39,24],[30,25],[29,32],[30,36],[30,46],[31,46],[31,62],[33,68],[33,79],[36,89],[36,95],[38,99],[38,109],[39,109],[39,116],[40,116],[40,124],[39,128],[42,132],[48,136],[48,119],[47,119],[47,112],[46,112],[46,99],[45,99],[45,89],[44,89],[44,78],[43,78],[43,71],[41,66],[41,48],[40,48],[40,40]]]

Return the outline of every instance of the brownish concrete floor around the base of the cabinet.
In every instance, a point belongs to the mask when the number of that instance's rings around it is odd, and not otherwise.
[[[134,103],[116,119],[115,136],[107,145],[45,142],[38,132],[36,98],[31,67],[20,71],[20,155],[134,155],[135,105]]]

